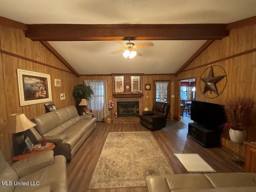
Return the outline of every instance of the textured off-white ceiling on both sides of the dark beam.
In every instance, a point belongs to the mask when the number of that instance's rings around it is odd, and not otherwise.
[[[25,24],[209,24],[255,15],[256,0],[0,0],[0,16]],[[110,54],[125,41],[49,43],[79,74],[165,74],[175,73],[205,41],[152,42],[134,59]]]

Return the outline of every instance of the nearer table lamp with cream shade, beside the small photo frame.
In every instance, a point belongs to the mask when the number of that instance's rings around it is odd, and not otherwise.
[[[24,113],[16,113],[10,115],[6,126],[4,126],[0,133],[12,133],[12,148],[14,155],[19,154],[23,150],[23,131],[26,131],[34,126],[36,126],[36,124],[30,121]]]

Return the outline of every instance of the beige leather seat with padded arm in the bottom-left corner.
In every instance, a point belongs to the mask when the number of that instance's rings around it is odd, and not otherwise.
[[[10,166],[0,151],[0,192],[68,192],[66,158],[46,151]]]

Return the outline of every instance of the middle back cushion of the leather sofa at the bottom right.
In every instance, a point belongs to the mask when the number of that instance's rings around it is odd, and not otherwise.
[[[213,188],[209,180],[199,173],[170,174],[166,175],[166,181],[172,192],[197,192]]]

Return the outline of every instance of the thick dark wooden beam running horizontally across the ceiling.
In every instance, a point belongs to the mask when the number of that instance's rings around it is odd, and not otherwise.
[[[26,37],[34,41],[216,40],[229,35],[226,24],[32,24]]]

